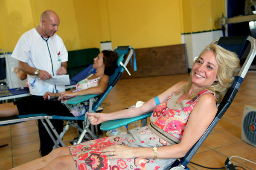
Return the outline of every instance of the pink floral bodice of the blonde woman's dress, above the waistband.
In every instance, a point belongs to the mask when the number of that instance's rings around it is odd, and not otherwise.
[[[157,105],[150,120],[157,127],[181,140],[189,115],[199,97],[205,93],[212,93],[212,91],[206,89],[198,93],[194,99],[182,100],[179,104],[177,104],[177,99],[182,94],[176,95],[176,93],[177,91],[169,96],[166,102]]]

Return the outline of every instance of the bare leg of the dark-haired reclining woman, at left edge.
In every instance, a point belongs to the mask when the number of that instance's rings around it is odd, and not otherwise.
[[[3,103],[0,105],[0,117],[9,117],[18,115],[17,106],[13,103]]]

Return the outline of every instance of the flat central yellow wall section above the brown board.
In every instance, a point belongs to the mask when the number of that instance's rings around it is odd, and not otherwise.
[[[108,0],[112,46],[180,44],[179,0]]]

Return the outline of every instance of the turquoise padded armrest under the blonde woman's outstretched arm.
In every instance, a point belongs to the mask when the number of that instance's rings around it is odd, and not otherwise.
[[[100,129],[101,130],[112,130],[112,129],[115,129],[117,127],[126,126],[129,123],[136,122],[137,120],[147,118],[147,117],[151,116],[151,114],[152,114],[152,112],[147,113],[147,114],[143,114],[143,115],[140,115],[140,116],[137,116],[137,117],[127,118],[127,119],[110,120],[108,122],[103,123],[100,126]]]

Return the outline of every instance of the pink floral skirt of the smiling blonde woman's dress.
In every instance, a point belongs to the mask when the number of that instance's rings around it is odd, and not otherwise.
[[[167,165],[175,161],[175,159],[158,159],[154,161],[154,159],[143,158],[106,159],[108,156],[101,155],[100,150],[114,144],[130,147],[171,145],[152,133],[148,127],[140,127],[130,132],[130,134],[111,136],[70,146],[70,152],[75,161],[76,168],[78,170],[146,170],[151,168],[160,170],[164,168],[161,164]]]

